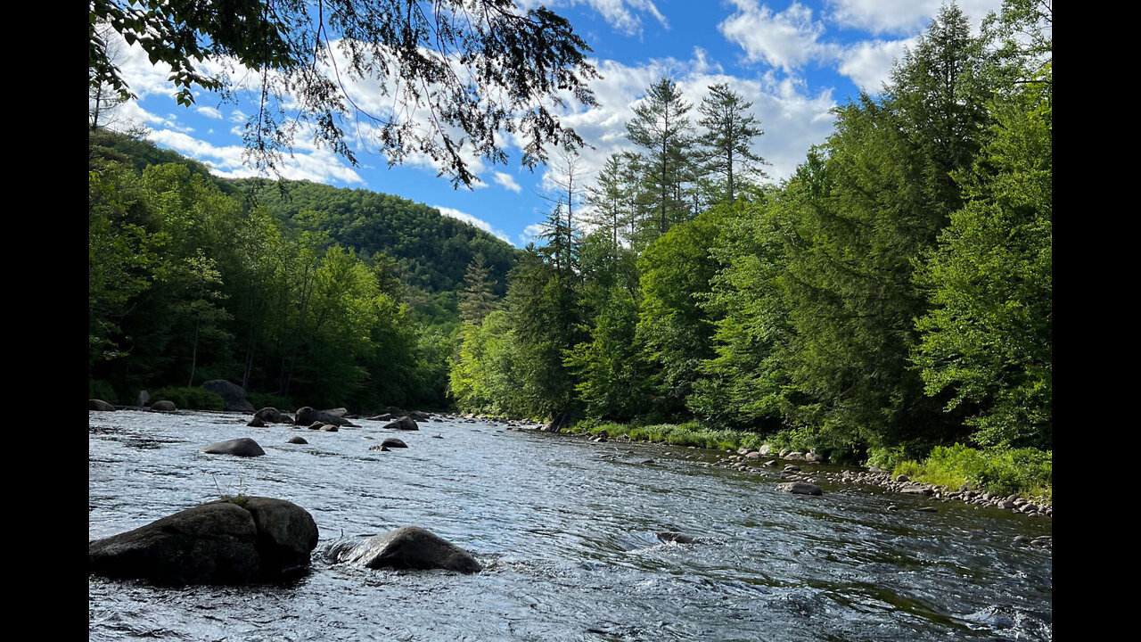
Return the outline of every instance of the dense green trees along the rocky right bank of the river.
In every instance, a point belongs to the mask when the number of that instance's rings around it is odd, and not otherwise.
[[[1052,78],[1036,7],[1010,0],[972,37],[945,6],[780,185],[737,183],[761,162],[742,153],[760,128],[739,96],[711,88],[694,136],[673,82],[655,82],[628,123],[645,153],[610,157],[588,188],[591,234],[551,235],[509,275],[505,314],[471,332],[494,351],[453,366],[480,391],[459,406],[1038,484]],[[954,443],[1002,450],[932,454]],[[1029,476],[1011,481],[1019,463]]]

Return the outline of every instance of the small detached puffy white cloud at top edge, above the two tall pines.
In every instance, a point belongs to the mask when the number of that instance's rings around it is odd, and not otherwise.
[[[811,61],[834,55],[834,45],[820,42],[824,24],[812,21],[812,10],[793,2],[778,14],[758,0],[734,0],[737,13],[729,16],[718,30],[730,42],[745,50],[748,62],[763,62],[780,67],[785,73]]]

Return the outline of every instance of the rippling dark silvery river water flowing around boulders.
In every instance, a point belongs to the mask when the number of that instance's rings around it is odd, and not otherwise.
[[[89,538],[222,493],[276,497],[321,530],[310,572],[285,585],[177,589],[91,577],[90,640],[1052,637],[1050,551],[1013,541],[1050,535],[1049,519],[825,481],[823,497],[788,495],[776,490],[778,473],[702,465],[720,451],[461,419],[323,433],[252,428],[248,418],[90,412]],[[286,443],[296,434],[309,444]],[[199,452],[238,436],[266,456]],[[386,436],[408,448],[369,450]],[[939,512],[914,511],[923,505]],[[403,525],[470,551],[484,571],[370,570],[317,554]],[[663,543],[657,531],[698,541]]]

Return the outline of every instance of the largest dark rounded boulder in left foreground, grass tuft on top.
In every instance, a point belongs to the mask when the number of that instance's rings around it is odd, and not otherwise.
[[[88,545],[88,570],[160,585],[250,584],[309,564],[317,524],[282,499],[240,496],[169,515]]]

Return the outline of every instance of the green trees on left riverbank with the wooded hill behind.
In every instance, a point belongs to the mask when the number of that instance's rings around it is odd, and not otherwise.
[[[129,402],[225,378],[284,408],[448,403],[455,290],[470,256],[497,257],[505,273],[512,248],[382,194],[321,186],[330,214],[275,216],[258,203],[281,203],[272,186],[243,195],[244,182],[104,130],[90,150],[92,395]],[[311,187],[294,192],[313,199]],[[349,200],[367,207],[338,209]],[[387,235],[373,233],[386,222]]]

